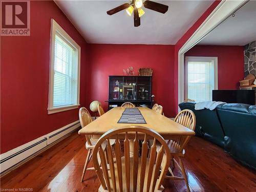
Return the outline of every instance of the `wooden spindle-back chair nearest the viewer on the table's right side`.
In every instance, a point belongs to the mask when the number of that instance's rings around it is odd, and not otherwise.
[[[176,121],[177,123],[187,127],[190,130],[195,130],[196,127],[196,116],[193,113],[193,111],[191,110],[182,110],[174,119],[174,121]],[[182,177],[176,177],[173,174],[172,169],[169,167],[168,170],[170,172],[170,174],[172,176],[165,176],[165,178],[169,178],[169,179],[177,179],[177,180],[184,180],[186,183],[186,187],[187,187],[187,191],[189,190],[189,186],[188,186],[188,181],[187,181],[187,176],[186,176],[186,172],[185,172],[185,168],[182,162],[181,157],[184,157],[185,154],[185,146],[188,143],[189,139],[191,138],[191,136],[177,136],[175,139],[173,140],[167,140],[166,143],[169,147],[170,150],[170,154],[172,155],[172,162],[173,162],[173,166],[175,167],[175,164],[177,164],[178,168],[180,169],[183,178]],[[157,148],[159,148],[160,146],[157,146]],[[175,158],[178,158],[178,161],[176,161]]]

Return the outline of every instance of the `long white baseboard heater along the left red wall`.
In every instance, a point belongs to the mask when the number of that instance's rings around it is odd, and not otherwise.
[[[74,131],[79,126],[80,126],[80,123],[79,123],[79,120],[77,120],[73,123],[70,123],[66,126],[61,127],[60,129],[54,132],[51,132],[47,135],[44,135],[33,141],[30,141],[24,145],[18,146],[17,148],[14,148],[11,151],[1,154],[1,158],[0,158],[1,174],[5,172],[5,170],[11,168],[17,163],[23,161],[24,159],[40,151],[42,148],[46,147],[47,145],[53,143],[54,141]]]

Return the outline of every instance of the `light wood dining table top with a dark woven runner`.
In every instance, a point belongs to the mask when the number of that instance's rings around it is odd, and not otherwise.
[[[145,123],[119,123],[125,108],[115,107],[104,113],[102,116],[96,118],[88,125],[82,127],[78,134],[93,135],[99,138],[106,132],[120,127],[129,126],[145,126],[159,133],[165,140],[172,139],[174,136],[193,136],[195,132],[187,127],[155,112],[146,107],[138,107]]]

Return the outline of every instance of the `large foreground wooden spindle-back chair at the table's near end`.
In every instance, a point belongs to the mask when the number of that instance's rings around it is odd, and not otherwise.
[[[114,155],[110,138],[116,139]],[[154,139],[149,157],[147,157],[148,138]],[[124,155],[121,155],[120,139],[124,139]],[[130,139],[133,147],[130,147]],[[139,156],[139,139],[143,139],[141,156]],[[105,156],[101,147],[105,141],[108,143],[106,146],[108,157]],[[158,152],[156,151],[157,142],[161,145]],[[133,157],[130,156],[130,150],[133,151]],[[167,173],[170,158],[164,139],[147,127],[131,126],[110,130],[99,138],[93,151],[93,165],[101,183],[99,191],[162,191],[164,189],[162,182]],[[161,164],[162,172],[159,174]]]

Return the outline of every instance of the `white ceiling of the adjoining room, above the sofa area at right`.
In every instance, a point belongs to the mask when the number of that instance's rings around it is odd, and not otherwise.
[[[244,46],[256,40],[256,1],[249,1],[234,15],[211,31],[198,45]]]

